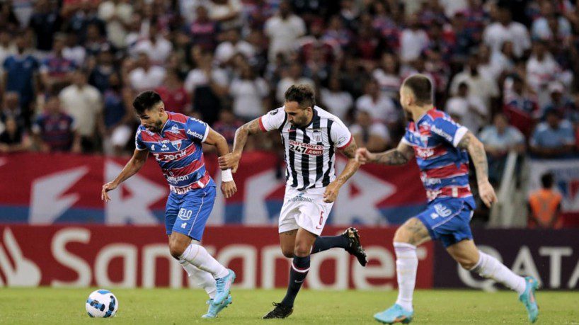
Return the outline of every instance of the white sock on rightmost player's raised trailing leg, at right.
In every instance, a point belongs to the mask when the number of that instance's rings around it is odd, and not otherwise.
[[[471,271],[478,273],[483,278],[493,279],[498,283],[502,283],[518,292],[519,295],[524,292],[524,287],[526,287],[527,283],[524,282],[522,276],[513,273],[512,270],[493,256],[482,251],[478,251],[478,254],[480,256],[478,262]]]

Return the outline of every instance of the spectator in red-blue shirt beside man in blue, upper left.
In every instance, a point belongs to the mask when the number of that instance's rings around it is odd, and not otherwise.
[[[64,50],[65,42],[65,35],[57,35],[52,52],[42,60],[40,81],[42,81],[44,89],[48,92],[52,92],[53,89],[62,89],[70,84],[72,73],[76,69],[74,61],[63,56],[62,50]]]

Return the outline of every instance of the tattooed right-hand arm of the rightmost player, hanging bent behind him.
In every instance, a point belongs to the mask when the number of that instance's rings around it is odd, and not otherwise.
[[[462,137],[457,147],[469,152],[476,170],[476,183],[478,183],[481,200],[487,207],[491,207],[497,201],[497,196],[493,186],[488,182],[488,162],[484,145],[469,131]]]

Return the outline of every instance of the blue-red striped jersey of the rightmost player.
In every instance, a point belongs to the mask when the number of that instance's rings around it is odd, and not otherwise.
[[[474,209],[469,186],[469,154],[457,147],[466,132],[466,127],[436,109],[429,110],[406,128],[402,141],[414,149],[430,203],[441,198],[462,198]]]

